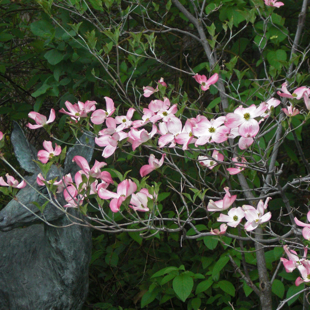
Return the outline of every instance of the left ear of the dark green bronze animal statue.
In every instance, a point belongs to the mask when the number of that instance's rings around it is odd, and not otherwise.
[[[20,166],[28,172],[38,173],[38,165],[33,160],[38,160],[37,150],[31,145],[24,135],[24,131],[17,122],[13,122],[13,131],[11,141],[14,148],[15,156]]]

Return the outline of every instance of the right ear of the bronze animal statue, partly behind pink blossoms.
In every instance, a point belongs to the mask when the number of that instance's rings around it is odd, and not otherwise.
[[[81,138],[78,139],[72,148],[69,148],[66,154],[66,159],[64,162],[64,174],[66,175],[71,173],[71,175],[74,176],[78,170],[81,170],[75,162],[72,162],[73,157],[76,155],[82,156],[87,160],[87,162],[90,162],[94,153],[94,147],[94,137],[91,135],[91,133],[84,132]]]

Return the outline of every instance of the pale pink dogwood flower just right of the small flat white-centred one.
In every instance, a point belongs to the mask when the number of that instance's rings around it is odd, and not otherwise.
[[[246,231],[254,230],[259,224],[268,222],[271,219],[271,212],[264,214],[265,209],[267,208],[268,201],[271,197],[266,199],[265,205],[263,204],[263,200],[260,200],[257,204],[257,209],[250,205],[243,205],[242,209],[244,210],[246,217],[246,224],[244,228]],[[266,208],[265,208],[266,206]]]

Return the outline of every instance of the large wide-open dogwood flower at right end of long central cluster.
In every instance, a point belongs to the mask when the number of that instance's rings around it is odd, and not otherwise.
[[[259,123],[255,119],[260,117],[268,108],[268,104],[262,102],[259,107],[255,104],[248,108],[241,105],[233,113],[228,113],[225,119],[225,126],[228,128],[238,127],[238,132],[242,137],[255,137],[259,132]]]

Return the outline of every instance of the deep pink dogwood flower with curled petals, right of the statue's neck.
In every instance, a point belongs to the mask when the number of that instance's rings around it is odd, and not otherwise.
[[[110,199],[110,209],[113,212],[120,210],[121,204],[129,197],[132,193],[137,190],[137,185],[131,180],[124,180],[117,186],[117,192],[113,193],[105,188],[98,189],[98,196],[102,199]]]

